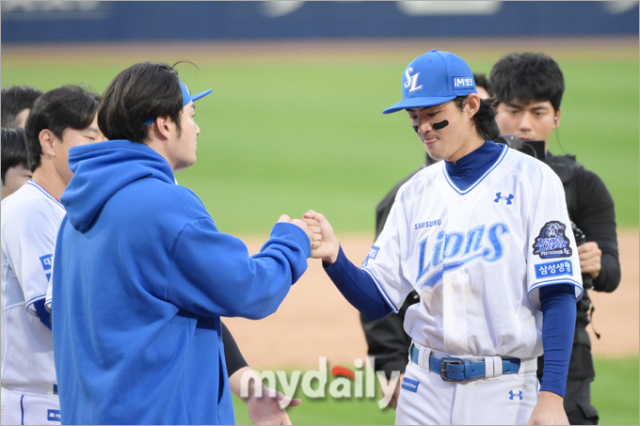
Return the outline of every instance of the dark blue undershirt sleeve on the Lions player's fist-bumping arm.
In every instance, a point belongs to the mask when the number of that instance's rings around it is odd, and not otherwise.
[[[338,259],[324,270],[345,299],[368,320],[377,320],[393,312],[378,291],[373,278],[347,259],[342,246]]]

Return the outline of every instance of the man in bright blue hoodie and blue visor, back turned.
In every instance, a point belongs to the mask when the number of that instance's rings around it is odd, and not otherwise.
[[[220,317],[272,314],[306,270],[304,222],[283,215],[249,256],[175,184],[196,160],[193,101],[210,92],[133,65],[98,110],[109,141],[69,151],[52,321],[65,424],[233,423]]]

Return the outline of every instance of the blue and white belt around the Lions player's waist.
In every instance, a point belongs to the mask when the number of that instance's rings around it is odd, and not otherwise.
[[[411,362],[425,370],[438,373],[445,382],[515,374],[520,370],[521,363],[517,358],[503,359],[499,356],[462,359],[444,354],[438,355],[429,348],[419,348],[415,343],[411,344],[410,354]]]

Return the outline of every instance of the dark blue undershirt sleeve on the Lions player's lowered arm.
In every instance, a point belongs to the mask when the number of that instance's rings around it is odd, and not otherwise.
[[[540,288],[544,367],[541,391],[564,397],[576,327],[573,285],[554,284]]]

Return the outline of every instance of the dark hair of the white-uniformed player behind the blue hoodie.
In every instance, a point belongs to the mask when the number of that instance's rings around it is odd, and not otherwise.
[[[25,125],[32,172],[40,165],[42,156],[40,132],[48,129],[62,139],[62,132],[67,128],[86,129],[96,116],[99,101],[100,96],[75,85],[53,89],[36,100]]]

